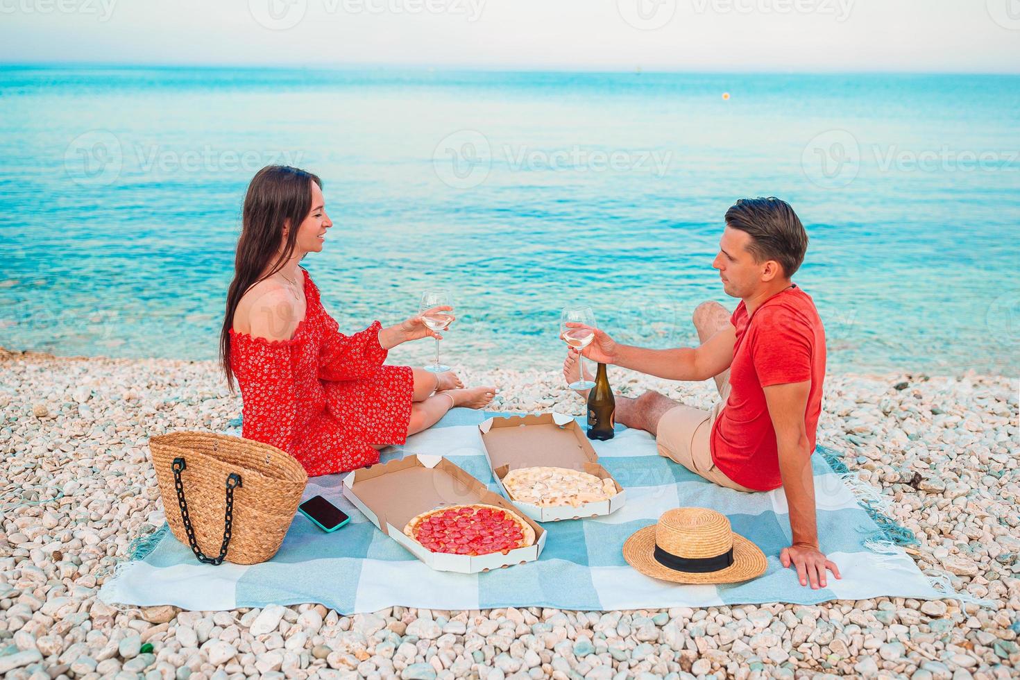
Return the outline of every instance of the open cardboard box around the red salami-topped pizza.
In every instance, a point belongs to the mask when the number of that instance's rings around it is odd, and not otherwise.
[[[546,531],[526,517],[534,529],[534,543],[506,555],[448,555],[432,553],[404,533],[419,514],[440,506],[483,503],[520,516],[499,493],[441,456],[410,455],[396,461],[356,470],[344,477],[344,495],[379,530],[412,555],[439,571],[474,574],[538,560],[546,545]]]

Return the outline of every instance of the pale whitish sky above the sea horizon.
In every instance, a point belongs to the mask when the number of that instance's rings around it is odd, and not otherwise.
[[[1020,0],[0,0],[0,63],[1020,72]]]

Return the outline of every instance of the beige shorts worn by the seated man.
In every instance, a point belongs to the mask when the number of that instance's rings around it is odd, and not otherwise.
[[[729,397],[729,385],[722,389],[722,400],[711,411],[690,406],[677,406],[663,414],[659,420],[656,443],[659,455],[672,459],[695,474],[719,486],[737,491],[754,492],[756,489],[737,484],[722,473],[712,461],[712,425],[722,412]]]

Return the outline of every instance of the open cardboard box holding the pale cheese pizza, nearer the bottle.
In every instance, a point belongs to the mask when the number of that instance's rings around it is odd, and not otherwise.
[[[514,506],[539,522],[598,517],[623,507],[626,492],[606,468],[592,442],[573,419],[563,413],[537,413],[527,416],[490,418],[480,425],[482,449],[500,489]],[[599,479],[612,479],[616,495],[607,501],[573,506],[537,506],[513,500],[503,486],[510,470],[530,467],[554,467],[580,470]]]

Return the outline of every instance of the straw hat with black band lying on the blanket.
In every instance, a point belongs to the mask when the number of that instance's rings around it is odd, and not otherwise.
[[[627,538],[623,559],[646,576],[676,583],[736,583],[761,576],[767,566],[760,547],[707,508],[666,511]]]

